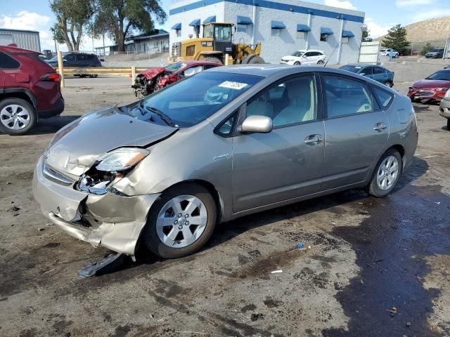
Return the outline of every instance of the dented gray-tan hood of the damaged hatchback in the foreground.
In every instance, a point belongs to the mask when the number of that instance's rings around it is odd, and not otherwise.
[[[44,154],[53,169],[81,176],[105,152],[117,147],[147,147],[176,128],[141,121],[117,107],[91,112],[65,126]]]

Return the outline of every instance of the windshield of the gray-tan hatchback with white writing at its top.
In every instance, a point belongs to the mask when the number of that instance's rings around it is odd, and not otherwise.
[[[188,128],[212,116],[263,77],[226,72],[200,72],[156,91],[128,107],[150,123]]]

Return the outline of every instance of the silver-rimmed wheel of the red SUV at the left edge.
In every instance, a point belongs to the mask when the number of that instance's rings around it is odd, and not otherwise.
[[[37,122],[34,107],[21,98],[6,98],[0,101],[0,131],[8,135],[23,135]]]

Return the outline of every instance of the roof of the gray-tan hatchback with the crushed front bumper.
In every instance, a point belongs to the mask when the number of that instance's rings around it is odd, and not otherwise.
[[[256,75],[260,77],[269,77],[273,74],[300,74],[302,72],[335,72],[336,74],[347,74],[345,70],[339,70],[331,67],[293,67],[292,65],[225,65],[224,67],[215,67],[207,72],[228,72],[233,74]]]

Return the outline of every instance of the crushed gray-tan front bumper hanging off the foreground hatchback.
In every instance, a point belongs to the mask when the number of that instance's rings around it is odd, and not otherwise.
[[[113,193],[89,194],[73,183],[59,181],[44,172],[41,157],[34,168],[33,194],[41,211],[72,237],[134,255],[147,214],[160,194],[124,197]]]

